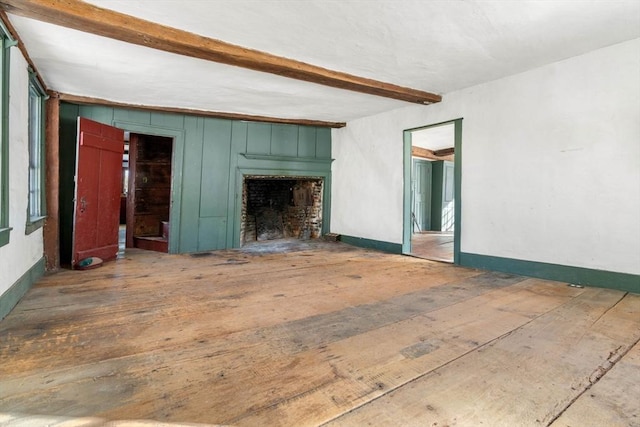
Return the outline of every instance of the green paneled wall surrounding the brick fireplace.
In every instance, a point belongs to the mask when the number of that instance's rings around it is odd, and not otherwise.
[[[323,231],[329,230],[330,129],[67,103],[62,103],[60,115],[65,158],[64,162],[61,158],[61,202],[71,203],[70,210],[61,212],[67,217],[61,221],[61,232],[69,243],[78,115],[136,133],[174,138],[170,252],[239,245],[243,175],[324,178]]]

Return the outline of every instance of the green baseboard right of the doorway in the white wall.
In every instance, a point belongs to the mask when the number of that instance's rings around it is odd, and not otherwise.
[[[594,270],[544,262],[523,261],[488,255],[460,253],[460,265],[482,270],[502,271],[521,276],[556,280],[574,285],[618,289],[640,294],[640,275]]]

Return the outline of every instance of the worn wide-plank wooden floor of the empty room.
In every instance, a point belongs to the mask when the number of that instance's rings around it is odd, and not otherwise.
[[[128,250],[0,322],[0,425],[637,426],[639,340],[620,291],[340,243]]]

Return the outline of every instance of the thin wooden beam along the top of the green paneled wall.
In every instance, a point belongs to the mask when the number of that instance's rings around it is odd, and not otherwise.
[[[57,92],[49,92],[49,95],[53,98],[60,98],[60,101],[65,101],[72,104],[81,104],[81,105],[103,105],[108,107],[127,108],[130,110],[157,111],[159,113],[186,114],[186,115],[202,116],[202,117],[214,117],[217,119],[245,120],[248,122],[282,123],[282,124],[288,124],[288,125],[317,126],[317,127],[327,127],[327,128],[342,128],[346,126],[346,123],[344,122],[325,122],[322,120],[310,120],[310,119],[283,119],[280,117],[252,116],[249,114],[223,113],[219,111],[194,110],[190,108],[158,107],[153,105],[127,104],[124,102],[110,101],[108,99],[70,95],[66,93],[57,93]]]

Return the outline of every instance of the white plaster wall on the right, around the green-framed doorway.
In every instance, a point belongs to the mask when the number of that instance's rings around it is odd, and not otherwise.
[[[635,39],[349,122],[331,231],[401,243],[403,130],[462,117],[462,252],[640,273],[638,76]]]

